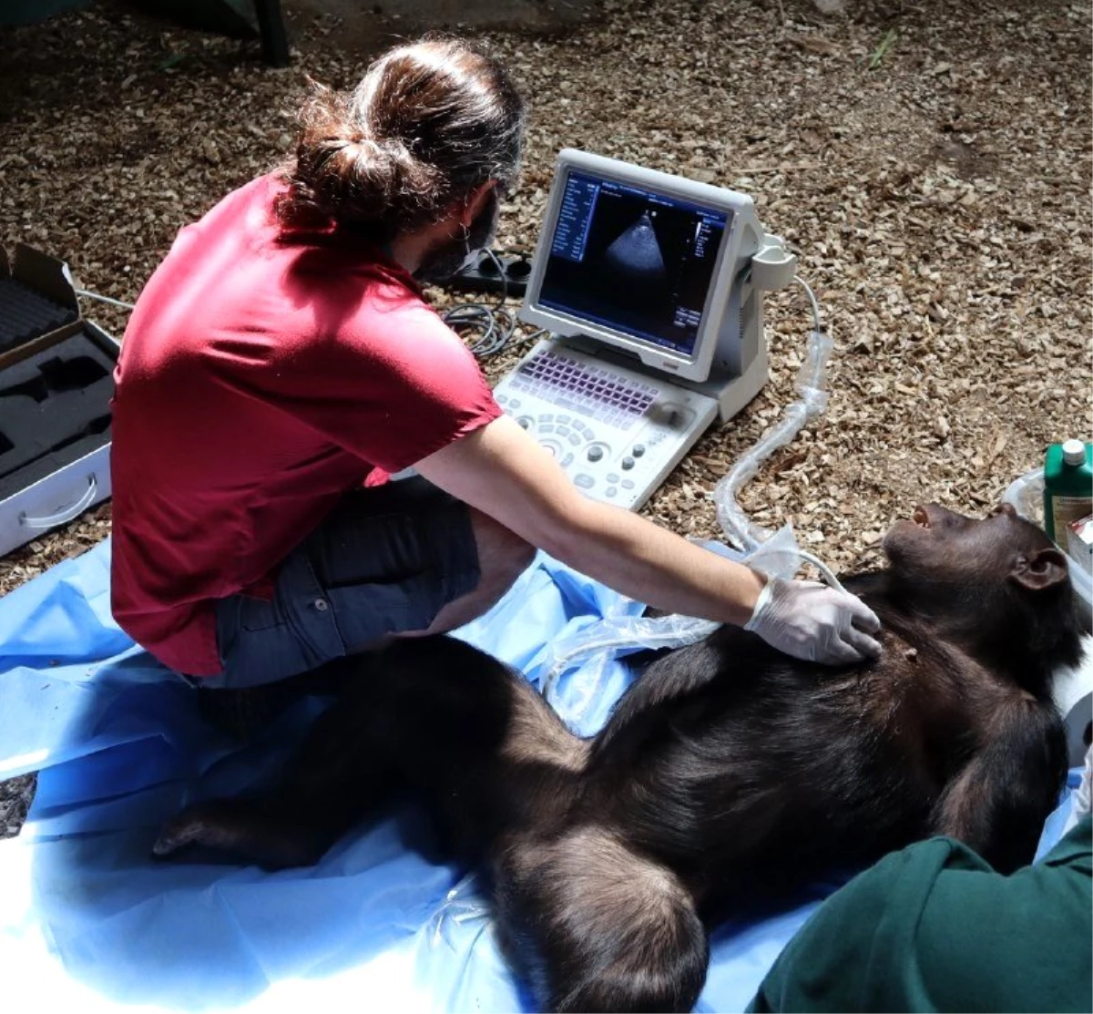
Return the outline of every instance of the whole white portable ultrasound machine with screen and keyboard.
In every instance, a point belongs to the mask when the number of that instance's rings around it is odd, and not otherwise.
[[[763,291],[795,269],[745,194],[566,149],[519,313],[549,337],[497,402],[586,495],[637,510],[766,382]]]

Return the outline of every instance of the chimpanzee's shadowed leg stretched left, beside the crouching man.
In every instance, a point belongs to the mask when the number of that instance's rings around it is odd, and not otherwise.
[[[508,740],[514,715],[524,714],[516,695],[533,691],[495,659],[447,637],[399,641],[343,664],[338,698],[280,785],[261,800],[184,811],[164,828],[157,854],[203,844],[269,865],[314,862],[402,787],[432,800],[442,825],[466,823],[466,812],[490,826],[497,792],[482,783],[485,770]],[[541,724],[532,722],[531,731]],[[560,734],[553,727],[546,732]]]

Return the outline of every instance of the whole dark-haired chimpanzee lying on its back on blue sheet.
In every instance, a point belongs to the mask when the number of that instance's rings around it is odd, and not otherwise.
[[[1081,655],[1065,556],[1008,506],[919,507],[884,551],[889,567],[846,579],[881,617],[879,659],[833,670],[722,627],[651,662],[590,740],[457,639],[346,660],[274,793],[198,804],[154,850],[306,864],[409,789],[457,857],[487,864],[545,1010],[690,1011],[706,928],[750,886],[936,834],[1011,871],[1057,801],[1050,683]]]

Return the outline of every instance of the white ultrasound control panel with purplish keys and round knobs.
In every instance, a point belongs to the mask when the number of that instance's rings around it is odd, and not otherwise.
[[[633,510],[717,414],[713,398],[550,339],[494,396],[586,495]]]

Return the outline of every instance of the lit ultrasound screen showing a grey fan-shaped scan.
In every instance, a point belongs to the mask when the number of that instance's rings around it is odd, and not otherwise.
[[[571,173],[538,302],[691,355],[729,215]]]

